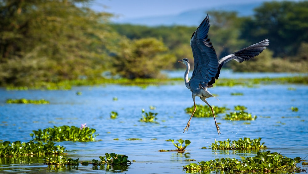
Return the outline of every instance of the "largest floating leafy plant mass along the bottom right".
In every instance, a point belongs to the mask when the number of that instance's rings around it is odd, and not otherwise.
[[[235,158],[221,158],[209,161],[190,163],[183,166],[187,172],[207,172],[211,169],[219,169],[228,172],[296,172],[302,171],[296,167],[301,158],[294,159],[282,156],[278,152],[257,152],[254,157],[243,157],[241,160]]]

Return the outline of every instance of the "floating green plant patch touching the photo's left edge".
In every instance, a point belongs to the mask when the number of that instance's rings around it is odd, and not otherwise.
[[[63,146],[55,146],[55,143],[48,141],[44,144],[42,141],[29,141],[27,143],[15,141],[0,142],[0,156],[20,156],[20,155],[49,155],[65,154]]]

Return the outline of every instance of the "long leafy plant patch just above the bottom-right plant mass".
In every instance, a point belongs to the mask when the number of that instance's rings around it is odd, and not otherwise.
[[[232,143],[229,139],[226,141],[216,141],[215,139],[215,143],[212,143],[210,148],[214,150],[260,150],[267,148],[264,144],[264,142],[261,144],[261,138],[251,140],[244,137],[244,139],[240,138],[237,141],[233,140]]]

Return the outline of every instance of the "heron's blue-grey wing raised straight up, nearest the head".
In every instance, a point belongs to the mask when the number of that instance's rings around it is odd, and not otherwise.
[[[210,22],[207,15],[190,39],[195,63],[193,75],[189,81],[191,88],[198,88],[199,84],[207,87],[207,83],[215,77],[218,71],[216,51],[208,38],[209,27]]]

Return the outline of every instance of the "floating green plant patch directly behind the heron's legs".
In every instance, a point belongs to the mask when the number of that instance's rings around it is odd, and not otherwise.
[[[197,108],[194,113],[195,117],[213,117],[213,113],[208,105],[197,104],[196,107]],[[226,107],[217,107],[217,106],[212,106],[212,107],[215,114],[225,113],[226,110],[229,110]],[[191,114],[193,113],[193,110],[194,106],[186,108],[185,112]]]

